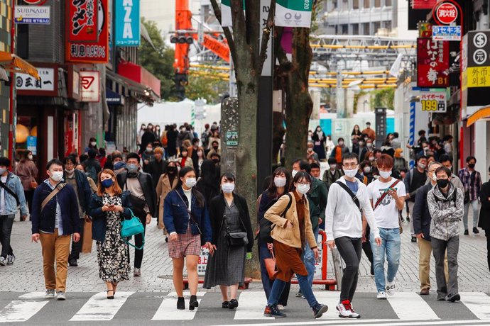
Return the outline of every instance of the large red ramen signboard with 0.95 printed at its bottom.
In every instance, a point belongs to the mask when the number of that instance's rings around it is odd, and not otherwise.
[[[77,6],[85,8],[92,4],[94,0],[70,0],[68,13],[77,13],[74,9]],[[91,9],[91,6],[89,8]],[[77,7],[78,8],[78,7]],[[87,62],[87,63],[107,63],[109,62],[109,21],[108,21],[108,0],[99,0],[95,6],[97,14],[87,18],[87,10],[80,9],[79,16],[70,18],[70,26],[67,28],[67,62]],[[97,17],[97,18],[96,18]],[[94,23],[97,21],[97,23]],[[91,24],[91,26],[88,26]],[[94,24],[94,26],[92,26]],[[76,35],[75,35],[76,33]]]

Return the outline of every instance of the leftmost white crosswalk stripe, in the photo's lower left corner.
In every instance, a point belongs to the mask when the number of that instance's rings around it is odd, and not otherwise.
[[[44,292],[30,292],[19,298],[27,300],[13,300],[0,311],[0,322],[26,322],[36,315],[48,304],[44,300]]]

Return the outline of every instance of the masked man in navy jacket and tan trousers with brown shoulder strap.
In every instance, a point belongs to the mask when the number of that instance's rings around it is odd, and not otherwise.
[[[46,170],[49,179],[34,191],[31,240],[43,248],[45,298],[66,300],[70,238],[80,241],[80,211],[77,193],[63,182],[62,162],[52,159]]]

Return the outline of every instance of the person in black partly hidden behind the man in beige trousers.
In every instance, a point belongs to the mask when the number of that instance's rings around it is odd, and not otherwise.
[[[403,183],[405,184],[405,191],[407,193],[406,201],[408,203],[408,210],[413,212],[413,206],[415,205],[415,194],[418,189],[425,184],[427,181],[427,173],[425,169],[427,167],[427,157],[419,156],[415,161],[415,168],[410,169],[407,174],[405,174],[405,179]],[[411,241],[417,242],[417,237],[415,237],[415,231],[413,230],[413,220],[410,220],[410,216],[407,215],[407,220],[410,221],[410,234],[412,236]]]

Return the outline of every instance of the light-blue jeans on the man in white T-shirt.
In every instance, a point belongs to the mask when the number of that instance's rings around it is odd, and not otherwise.
[[[379,237],[381,237],[381,246],[376,245],[376,242],[371,241],[371,249],[373,249],[374,258],[374,281],[378,292],[386,291],[386,280],[384,274],[384,258],[388,261],[388,271],[386,279],[388,282],[393,282],[400,265],[400,247],[401,238],[400,230],[385,229],[379,227]],[[371,240],[374,240],[374,235],[371,233]]]

